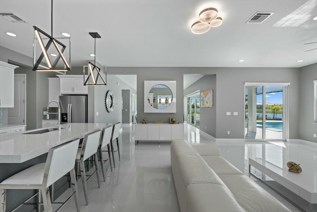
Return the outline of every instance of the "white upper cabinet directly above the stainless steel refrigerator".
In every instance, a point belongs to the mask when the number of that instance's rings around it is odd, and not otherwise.
[[[83,75],[57,75],[60,78],[60,94],[88,94]]]

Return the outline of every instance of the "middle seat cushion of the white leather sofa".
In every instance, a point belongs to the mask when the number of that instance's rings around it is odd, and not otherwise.
[[[234,165],[221,156],[202,156],[216,174],[243,174]]]

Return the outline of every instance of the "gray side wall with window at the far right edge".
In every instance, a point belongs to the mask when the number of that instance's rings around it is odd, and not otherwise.
[[[313,135],[317,134],[314,122],[314,80],[317,80],[317,64],[301,68],[300,71],[300,107],[299,107],[299,138],[317,142]]]

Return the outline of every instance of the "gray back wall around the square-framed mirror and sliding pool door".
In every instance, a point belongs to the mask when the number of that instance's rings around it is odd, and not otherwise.
[[[175,116],[183,121],[183,74],[216,74],[216,138],[244,139],[244,83],[245,82],[290,82],[290,139],[299,138],[299,68],[126,68],[108,67],[108,73],[137,73],[138,120],[168,121]],[[176,80],[176,114],[144,113],[144,80]],[[226,112],[238,112],[238,116],[226,116]],[[163,118],[162,118],[163,117]],[[227,135],[230,131],[230,135]]]

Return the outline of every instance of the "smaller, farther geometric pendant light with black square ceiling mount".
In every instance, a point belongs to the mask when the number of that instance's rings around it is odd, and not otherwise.
[[[87,74],[84,66],[84,85],[106,85],[106,70],[101,70],[96,65],[96,38],[101,38],[98,32],[89,33],[95,39],[95,62],[88,62]],[[103,76],[104,75],[104,76]]]

